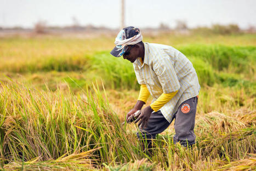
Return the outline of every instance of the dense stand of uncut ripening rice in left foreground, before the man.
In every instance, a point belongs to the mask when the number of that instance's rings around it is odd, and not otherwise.
[[[97,149],[92,159],[100,165],[143,156],[135,137],[126,134],[99,89],[94,90],[94,95],[87,89],[86,94],[64,96],[60,91],[39,92],[2,83],[0,111],[8,115],[1,126],[1,158],[5,163],[38,156],[39,161],[47,161]]]

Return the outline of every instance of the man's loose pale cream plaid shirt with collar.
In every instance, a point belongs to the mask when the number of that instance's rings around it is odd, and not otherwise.
[[[144,63],[139,58],[133,62],[138,83],[146,84],[153,101],[162,93],[179,90],[160,109],[170,122],[183,101],[198,95],[200,84],[196,71],[189,59],[173,47],[155,43],[144,43],[144,47]]]

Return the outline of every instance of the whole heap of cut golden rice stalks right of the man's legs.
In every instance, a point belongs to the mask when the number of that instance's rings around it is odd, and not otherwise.
[[[207,113],[197,119],[195,130],[204,156],[233,161],[256,152],[256,128],[246,128],[236,117]]]

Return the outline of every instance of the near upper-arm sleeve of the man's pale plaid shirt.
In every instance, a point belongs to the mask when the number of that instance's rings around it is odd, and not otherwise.
[[[160,82],[163,93],[173,93],[179,90],[180,83],[174,70],[172,61],[167,53],[162,53],[153,64],[158,81]]]

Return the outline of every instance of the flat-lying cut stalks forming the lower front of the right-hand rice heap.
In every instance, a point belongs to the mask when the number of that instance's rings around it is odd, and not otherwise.
[[[204,156],[233,161],[248,153],[256,153],[256,128],[241,129],[232,133],[220,133],[200,138]]]

